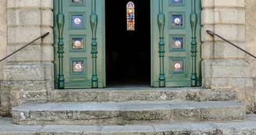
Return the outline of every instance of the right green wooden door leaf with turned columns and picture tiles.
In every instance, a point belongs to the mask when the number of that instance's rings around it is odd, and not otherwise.
[[[201,86],[201,1],[151,0],[151,84]]]

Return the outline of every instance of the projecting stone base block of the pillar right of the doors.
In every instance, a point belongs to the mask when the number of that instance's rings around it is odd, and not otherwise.
[[[206,88],[253,87],[250,66],[244,60],[203,60],[203,86]],[[205,72],[208,71],[208,72]]]

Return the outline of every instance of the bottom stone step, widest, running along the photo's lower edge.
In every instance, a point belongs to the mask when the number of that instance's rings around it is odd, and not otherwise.
[[[0,135],[254,135],[255,125],[255,115],[247,115],[243,121],[229,123],[151,123],[128,126],[23,126],[12,124],[9,118],[0,117]]]

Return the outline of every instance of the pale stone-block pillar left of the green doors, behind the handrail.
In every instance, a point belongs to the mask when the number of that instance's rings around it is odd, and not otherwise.
[[[5,115],[12,106],[47,101],[47,90],[53,88],[52,8],[52,0],[7,2],[8,54],[45,32],[50,34],[7,59],[1,84],[1,91],[10,94]]]

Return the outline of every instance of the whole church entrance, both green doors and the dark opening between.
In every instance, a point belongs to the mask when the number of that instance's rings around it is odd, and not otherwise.
[[[55,88],[200,87],[201,1],[54,1]]]

